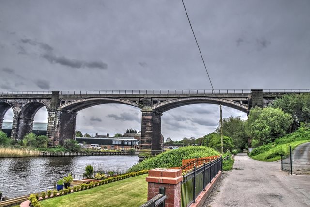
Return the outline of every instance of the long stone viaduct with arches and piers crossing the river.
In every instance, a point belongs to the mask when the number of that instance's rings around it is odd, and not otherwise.
[[[80,110],[108,103],[126,104],[141,109],[141,149],[157,154],[160,145],[162,113],[176,107],[209,103],[222,104],[248,113],[252,107],[264,107],[276,97],[310,90],[117,90],[51,91],[0,93],[0,129],[5,113],[14,112],[11,138],[22,139],[32,131],[36,112],[48,111],[47,136],[56,145],[75,138],[76,117]]]

